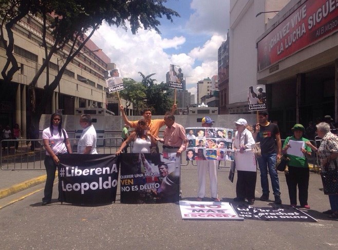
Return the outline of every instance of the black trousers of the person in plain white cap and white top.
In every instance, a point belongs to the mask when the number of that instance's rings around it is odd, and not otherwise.
[[[257,172],[237,170],[236,195],[238,198],[255,200]]]

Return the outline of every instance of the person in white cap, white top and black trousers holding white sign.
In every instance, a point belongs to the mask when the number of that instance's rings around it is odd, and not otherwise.
[[[249,153],[247,151],[250,151],[252,146],[255,144],[255,140],[252,137],[252,132],[249,130],[251,126],[248,126],[248,122],[245,119],[238,119],[235,122],[235,126],[237,131],[235,132],[233,149],[235,150],[237,183],[236,198],[234,198],[234,201],[244,201],[245,198],[247,198],[248,204],[253,205],[255,202],[255,188],[257,179],[256,165],[250,161],[240,161],[240,158],[247,156]]]

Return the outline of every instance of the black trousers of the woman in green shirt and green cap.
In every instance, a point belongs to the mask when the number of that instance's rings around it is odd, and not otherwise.
[[[308,205],[308,188],[310,171],[308,167],[289,166],[289,174],[285,175],[289,189],[290,204],[297,205],[297,185],[298,198],[301,206]]]

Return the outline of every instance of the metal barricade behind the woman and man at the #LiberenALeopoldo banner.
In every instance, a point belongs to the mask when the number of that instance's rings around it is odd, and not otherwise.
[[[79,139],[69,139],[76,153]],[[114,154],[122,143],[122,138],[97,138],[97,151],[100,154]],[[44,169],[46,149],[43,140],[2,140],[0,142],[0,167],[2,170]]]

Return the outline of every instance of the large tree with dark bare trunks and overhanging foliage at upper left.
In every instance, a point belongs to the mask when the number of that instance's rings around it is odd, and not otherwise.
[[[6,64],[1,71],[4,81],[1,83],[0,92],[4,95],[5,89],[13,88],[10,86],[13,75],[20,70],[13,54],[15,44],[13,29],[26,15],[39,16],[43,22],[41,46],[45,50],[45,60],[41,66],[37,65],[36,74],[29,79],[31,122],[37,126],[67,65],[80,53],[102,22],[124,29],[126,23],[129,23],[133,34],[141,26],[160,33],[158,29],[160,18],[165,16],[172,21],[172,16],[179,16],[176,11],[163,6],[166,2],[167,0],[0,0],[0,42],[7,56]],[[53,37],[52,42],[48,39],[50,35]],[[67,48],[66,53],[61,52],[64,48]],[[50,82],[49,62],[57,53],[64,54],[64,64],[55,79]],[[41,103],[35,104],[35,86],[43,72],[47,74],[45,91]]]

